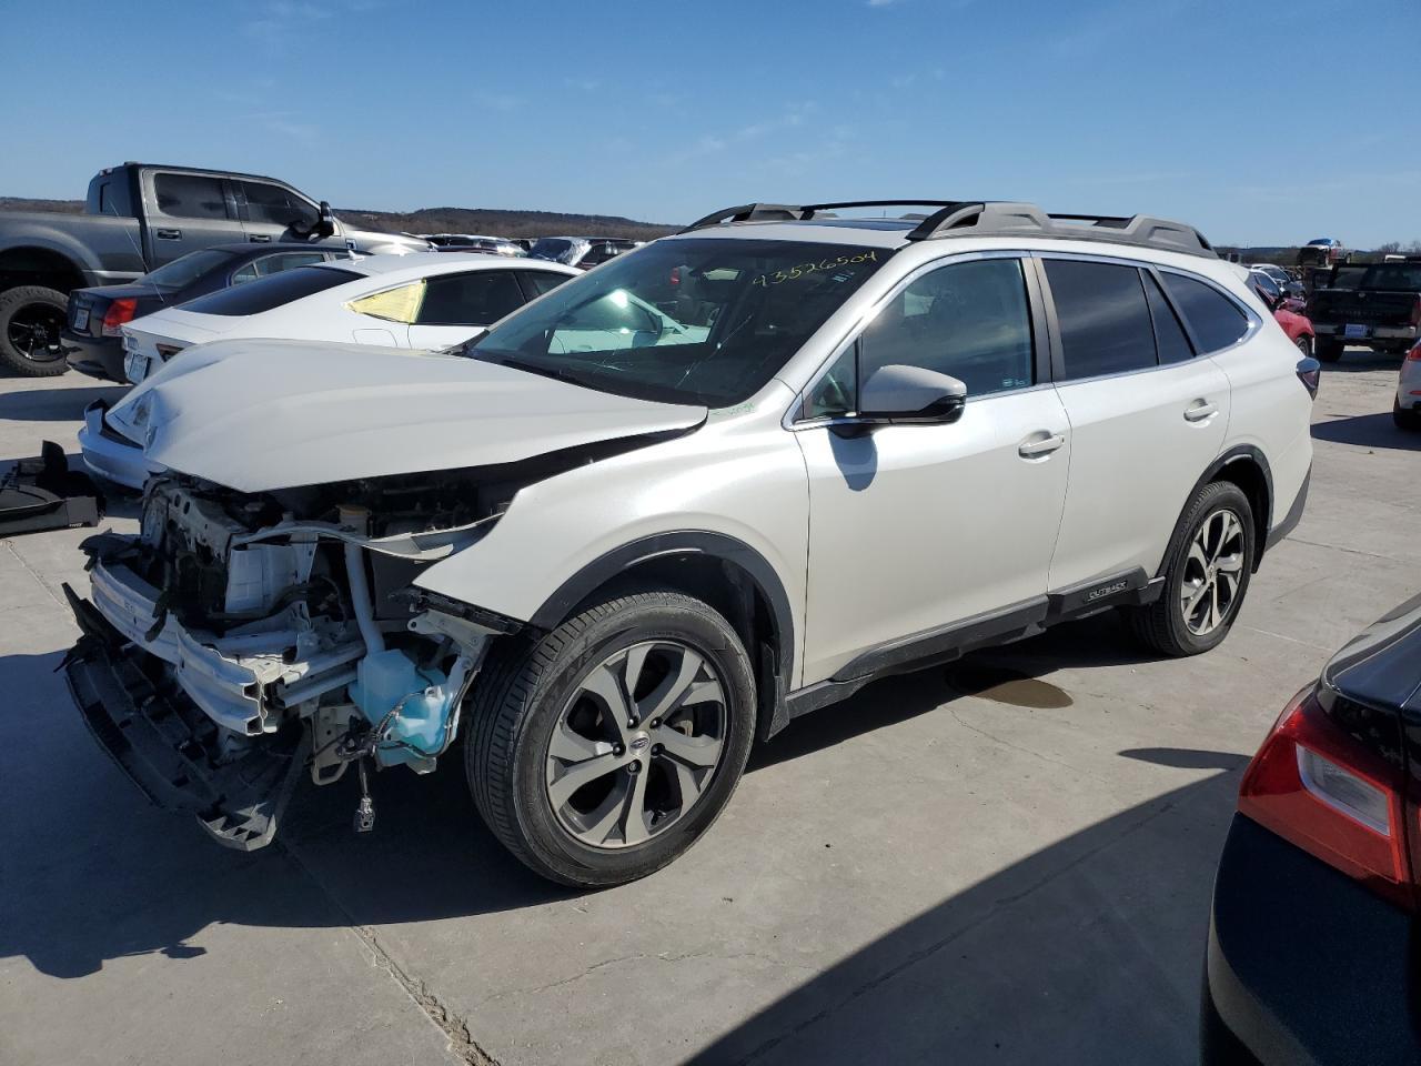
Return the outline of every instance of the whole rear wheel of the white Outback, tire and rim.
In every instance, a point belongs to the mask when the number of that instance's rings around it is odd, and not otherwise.
[[[1198,655],[1223,641],[1256,557],[1253,509],[1232,482],[1199,489],[1169,542],[1164,591],[1127,611],[1135,635],[1164,655]]]

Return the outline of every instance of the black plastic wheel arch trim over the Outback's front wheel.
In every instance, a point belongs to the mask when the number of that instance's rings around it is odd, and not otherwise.
[[[647,583],[693,596],[718,610],[745,641],[756,674],[756,732],[769,739],[786,725],[794,662],[794,615],[774,567],[749,544],[723,533],[686,530],[642,537],[573,574],[529,620],[556,628],[594,596]]]

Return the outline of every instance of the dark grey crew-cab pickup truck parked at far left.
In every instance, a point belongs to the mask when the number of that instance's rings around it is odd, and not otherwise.
[[[60,330],[71,289],[132,281],[179,256],[232,242],[428,249],[344,226],[286,182],[229,171],[128,162],[90,182],[82,215],[0,212],[0,365],[63,374]]]

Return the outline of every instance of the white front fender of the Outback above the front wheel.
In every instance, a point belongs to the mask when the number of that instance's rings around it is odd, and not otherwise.
[[[782,638],[804,631],[809,483],[777,414],[712,422],[530,485],[482,540],[416,584],[551,627],[610,577],[669,551],[740,564],[783,615]]]

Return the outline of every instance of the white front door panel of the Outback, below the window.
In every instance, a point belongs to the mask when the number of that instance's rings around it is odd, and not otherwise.
[[[1061,446],[1019,453],[1044,436]],[[1046,594],[1070,459],[1054,389],[972,401],[951,425],[796,438],[810,486],[806,684],[874,645]]]

